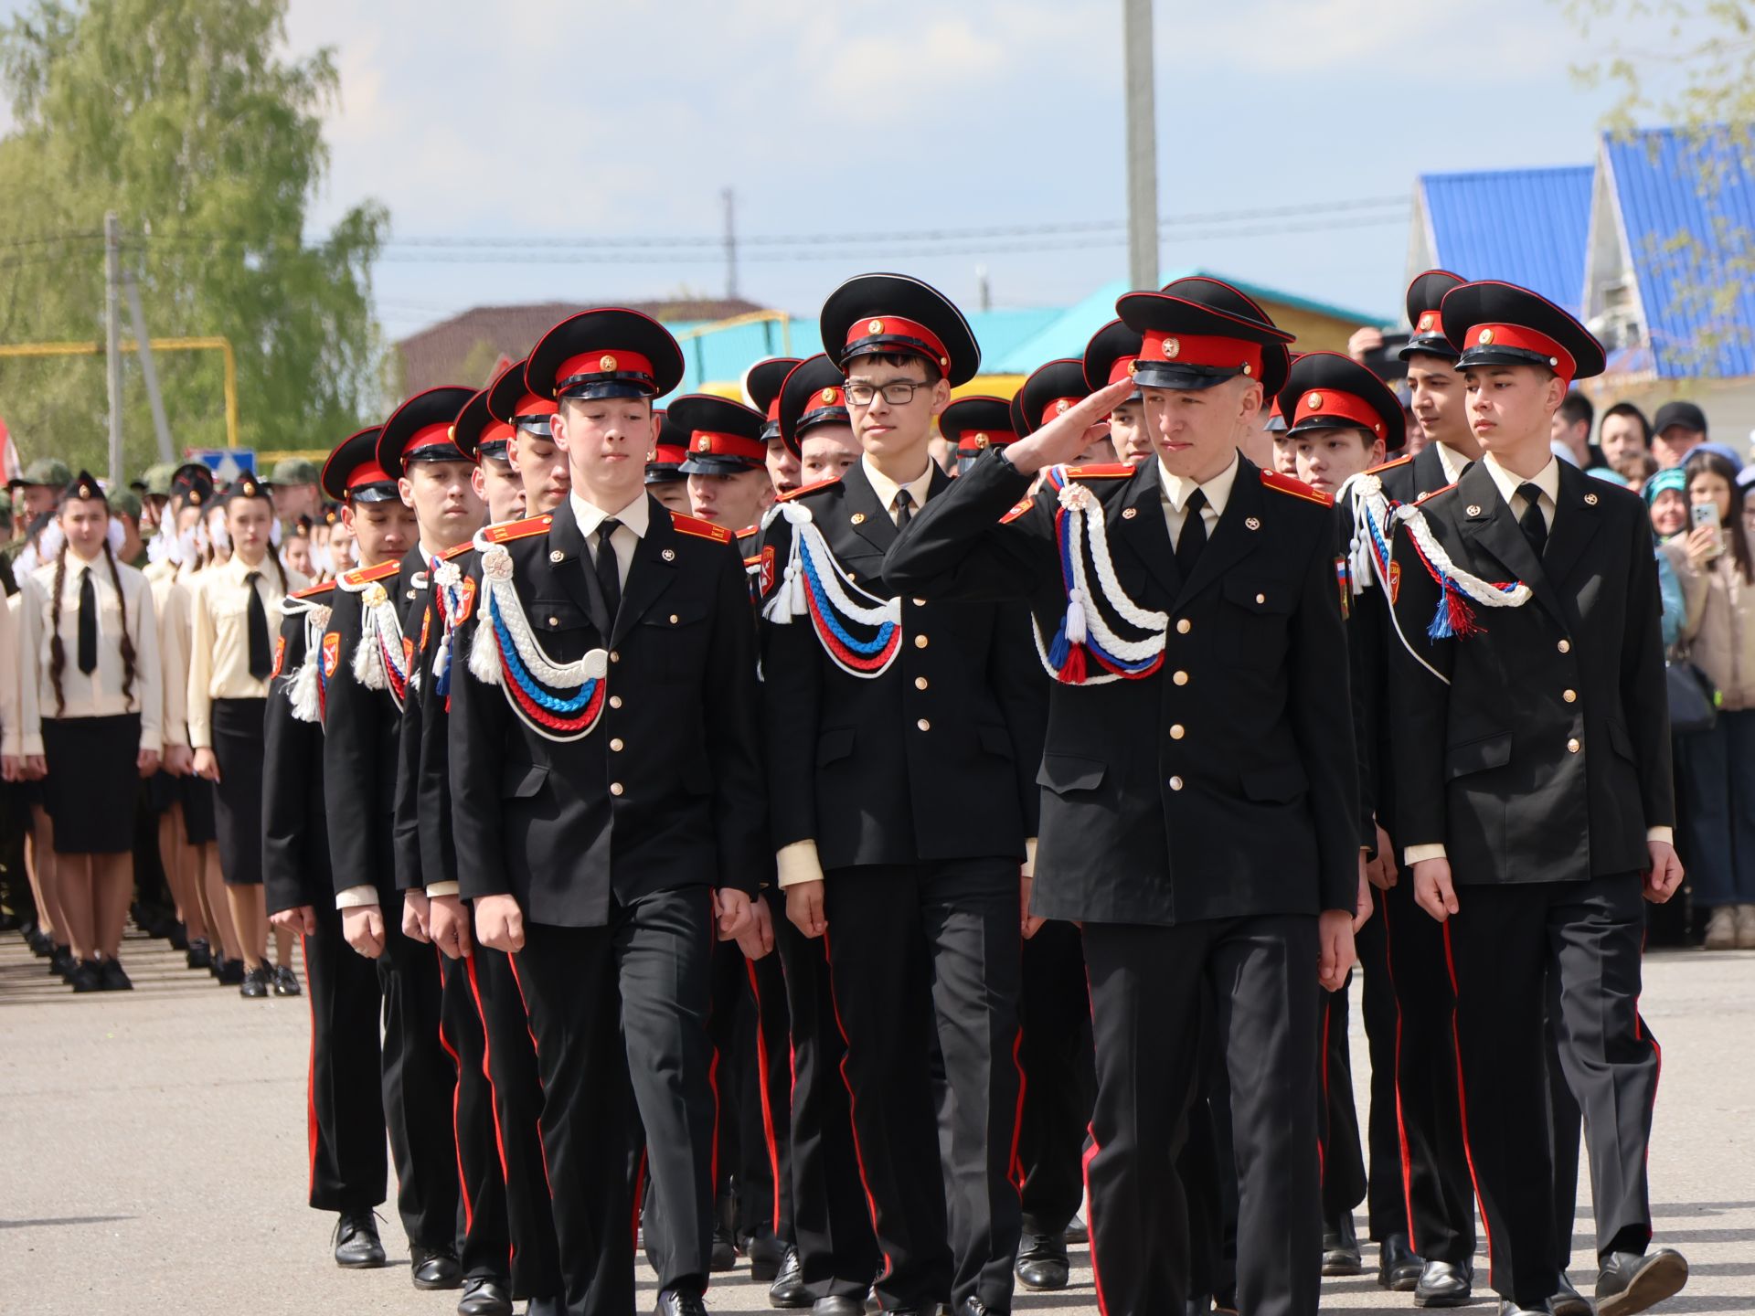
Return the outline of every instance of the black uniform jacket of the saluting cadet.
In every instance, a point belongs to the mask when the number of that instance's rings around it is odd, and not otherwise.
[[[985,456],[897,540],[888,577],[934,598],[1028,597],[1046,644],[1067,607],[1057,497],[1000,523],[1028,486]],[[1358,767],[1329,500],[1271,488],[1239,458],[1185,581],[1157,461],[1088,488],[1121,588],[1169,630],[1151,676],[1051,688],[1034,912],[1174,925],[1351,911]]]

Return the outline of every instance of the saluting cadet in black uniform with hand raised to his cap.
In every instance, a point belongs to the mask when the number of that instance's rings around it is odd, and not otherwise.
[[[1130,293],[1158,454],[1078,453],[1109,384],[956,481],[885,560],[930,598],[1032,600],[1057,674],[1039,781],[1035,918],[1085,928],[1097,1104],[1085,1170],[1111,1316],[1181,1311],[1174,1170],[1200,997],[1230,1072],[1239,1309],[1316,1311],[1318,983],[1353,958],[1364,883],[1348,656],[1329,500],[1237,453],[1288,333],[1236,290]],[[1174,547],[1172,547],[1174,544]]]

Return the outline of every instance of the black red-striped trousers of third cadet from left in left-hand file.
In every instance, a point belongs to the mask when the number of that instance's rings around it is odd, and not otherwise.
[[[488,1081],[488,1033],[476,1007],[469,960],[448,960],[437,948],[444,991],[439,1005],[439,1044],[456,1065],[451,1132],[456,1137],[458,1202],[463,1230],[458,1260],[470,1277],[512,1274],[512,1237],[505,1223],[505,1170],[493,1126],[493,1084]]]

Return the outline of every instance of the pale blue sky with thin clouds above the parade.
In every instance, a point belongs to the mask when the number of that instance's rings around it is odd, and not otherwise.
[[[312,230],[390,207],[391,337],[479,304],[718,295],[725,188],[755,302],[814,312],[849,274],[904,268],[972,304],[985,268],[995,305],[1065,305],[1127,270],[1120,14],[291,0],[290,46],[333,47],[342,81]],[[1569,65],[1606,40],[1550,0],[1158,0],[1158,205],[1188,218],[1160,268],[1393,316],[1415,175],[1590,161],[1608,95]],[[655,237],[690,244],[553,246]]]

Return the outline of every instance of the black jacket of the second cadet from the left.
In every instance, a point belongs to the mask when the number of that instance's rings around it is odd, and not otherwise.
[[[425,593],[414,576],[426,570],[419,547],[397,570],[376,577],[390,591],[407,639],[419,635]],[[328,811],[330,863],[335,891],[377,888],[386,902],[400,890],[393,862],[398,735],[402,714],[388,690],[367,690],[353,674],[363,619],[362,593],[337,588],[323,637],[321,662],[333,660],[323,714],[323,800]],[[333,649],[330,647],[333,644]],[[400,905],[398,905],[400,907]]]

